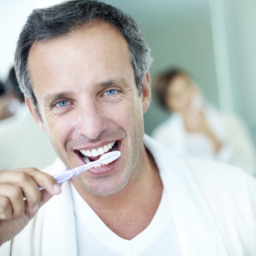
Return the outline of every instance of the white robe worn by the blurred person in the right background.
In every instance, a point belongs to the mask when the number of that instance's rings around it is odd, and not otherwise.
[[[256,176],[256,152],[250,133],[238,116],[220,113],[211,105],[204,109],[206,121],[212,132],[222,143],[216,154],[210,140],[201,133],[187,133],[183,118],[173,113],[158,124],[151,137],[170,147],[179,155],[191,155],[236,165]]]

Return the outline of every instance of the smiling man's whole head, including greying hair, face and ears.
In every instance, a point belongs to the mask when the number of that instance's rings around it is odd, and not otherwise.
[[[55,36],[42,39],[34,35],[38,39],[27,47],[26,57],[16,51],[19,81],[29,80],[37,109],[26,91],[27,83],[23,83],[26,104],[68,168],[119,150],[121,157],[113,163],[78,176],[80,184],[92,194],[116,193],[132,173],[138,176],[143,165],[142,158],[138,159],[142,152],[145,155],[143,113],[151,95],[149,50],[135,23],[113,7],[94,1],[71,1],[46,10],[45,15],[36,11],[40,17],[34,13],[34,19],[37,17],[38,27],[42,23],[44,35]],[[67,23],[73,26],[69,25],[68,30],[63,13],[65,17],[70,13]],[[103,14],[116,18],[110,22],[110,18],[100,18]],[[33,34],[35,28],[31,30]],[[23,30],[18,45],[24,34],[27,32]],[[127,38],[128,34],[132,38]],[[20,59],[23,66],[19,68]]]

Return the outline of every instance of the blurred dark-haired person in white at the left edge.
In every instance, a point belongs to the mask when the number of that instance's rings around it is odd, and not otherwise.
[[[10,69],[5,90],[6,112],[0,121],[0,170],[27,166],[45,168],[55,160],[56,154],[47,135],[29,114],[14,67]]]

